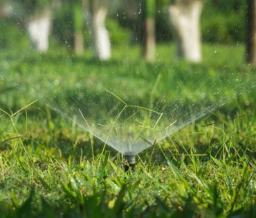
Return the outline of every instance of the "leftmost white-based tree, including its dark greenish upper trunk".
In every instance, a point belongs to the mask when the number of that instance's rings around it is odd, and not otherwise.
[[[26,26],[31,43],[39,52],[48,50],[48,37],[51,32],[51,0],[21,0],[26,9]]]

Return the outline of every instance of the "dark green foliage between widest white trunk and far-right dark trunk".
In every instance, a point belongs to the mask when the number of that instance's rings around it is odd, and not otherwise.
[[[237,43],[246,40],[246,1],[205,1],[201,17],[203,40]]]

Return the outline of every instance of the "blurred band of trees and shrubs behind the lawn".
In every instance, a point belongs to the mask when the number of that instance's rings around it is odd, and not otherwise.
[[[153,62],[156,44],[176,42],[176,56],[201,62],[202,43],[249,43],[254,10],[253,1],[239,0],[1,0],[0,46],[65,48],[100,60],[113,58],[112,50],[120,47],[127,52],[127,46],[140,46],[141,58]]]

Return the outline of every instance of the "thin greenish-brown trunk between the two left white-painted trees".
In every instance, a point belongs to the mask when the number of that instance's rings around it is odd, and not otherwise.
[[[83,10],[82,1],[73,0],[72,1],[73,10],[73,30],[74,30],[74,51],[78,56],[84,53],[84,37],[83,37]]]

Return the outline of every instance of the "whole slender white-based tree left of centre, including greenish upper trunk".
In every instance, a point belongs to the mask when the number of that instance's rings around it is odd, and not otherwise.
[[[105,27],[108,5],[109,0],[89,0],[94,53],[100,60],[108,60],[111,57],[109,32]]]

